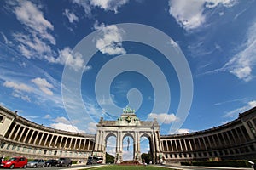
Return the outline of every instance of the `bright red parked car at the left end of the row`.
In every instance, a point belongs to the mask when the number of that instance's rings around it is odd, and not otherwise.
[[[15,167],[26,168],[27,159],[24,156],[12,157],[7,161],[2,161],[0,167],[13,169]]]

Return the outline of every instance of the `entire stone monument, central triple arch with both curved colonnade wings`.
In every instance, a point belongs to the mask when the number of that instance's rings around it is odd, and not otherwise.
[[[140,161],[139,139],[149,140],[154,162],[166,163],[218,158],[256,159],[256,107],[219,127],[186,134],[160,135],[160,126],[140,121],[134,112],[126,112],[117,121],[101,121],[96,134],[70,133],[45,127],[17,115],[0,105],[0,155],[29,158],[70,157],[86,161],[90,155],[105,156],[110,136],[117,139],[116,157],[122,161],[125,136],[134,142],[134,159]]]

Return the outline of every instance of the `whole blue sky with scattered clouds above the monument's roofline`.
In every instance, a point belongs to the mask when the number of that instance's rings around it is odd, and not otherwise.
[[[0,103],[32,122],[96,133],[129,105],[162,134],[188,133],[256,105],[253,0],[0,5]]]

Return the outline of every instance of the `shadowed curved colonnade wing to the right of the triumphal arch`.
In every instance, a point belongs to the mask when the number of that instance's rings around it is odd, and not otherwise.
[[[187,134],[161,136],[167,163],[256,158],[256,107],[219,127]]]

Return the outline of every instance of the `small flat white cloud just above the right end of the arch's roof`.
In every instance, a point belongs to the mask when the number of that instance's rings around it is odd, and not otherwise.
[[[154,119],[156,118],[157,121],[162,124],[170,124],[174,121],[177,121],[177,117],[174,114],[167,114],[167,113],[160,113],[160,114],[156,114],[156,113],[150,113],[148,114],[148,119]]]

